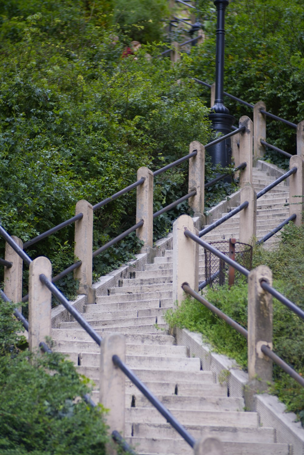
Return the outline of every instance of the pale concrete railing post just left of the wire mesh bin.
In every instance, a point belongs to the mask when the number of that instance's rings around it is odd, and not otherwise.
[[[185,229],[198,234],[193,218],[181,215],[173,223],[173,303],[184,298],[182,284],[198,290],[198,244],[185,236]]]

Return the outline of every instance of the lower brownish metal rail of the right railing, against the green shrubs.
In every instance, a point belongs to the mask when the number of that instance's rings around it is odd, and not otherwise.
[[[223,319],[227,324],[229,324],[233,329],[237,330],[238,333],[242,334],[243,337],[248,339],[248,330],[244,329],[240,324],[238,324],[234,319],[229,318],[227,314],[223,313],[212,303],[208,302],[205,298],[199,295],[197,292],[193,291],[192,288],[187,283],[182,285],[182,289],[192,297],[194,297],[198,302],[203,303],[203,305],[216,314],[220,319]],[[286,373],[288,373],[293,379],[295,379],[302,387],[304,387],[304,378],[300,376],[293,368],[289,366],[284,360],[282,360],[277,354],[275,354],[266,344],[261,346],[261,351],[263,354],[267,355],[275,364],[279,365]]]

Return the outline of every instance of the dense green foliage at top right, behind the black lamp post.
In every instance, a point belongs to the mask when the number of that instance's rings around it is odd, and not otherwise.
[[[194,47],[193,70],[203,81],[212,83],[215,75],[216,13],[208,39]],[[265,101],[267,110],[298,123],[304,118],[304,10],[302,2],[290,0],[234,0],[226,10],[224,88],[228,93],[251,104]],[[209,101],[209,91],[202,88]],[[239,118],[252,109],[225,97],[230,113]],[[295,153],[296,131],[267,118],[267,142]],[[280,167],[288,161],[277,152],[268,151]]]

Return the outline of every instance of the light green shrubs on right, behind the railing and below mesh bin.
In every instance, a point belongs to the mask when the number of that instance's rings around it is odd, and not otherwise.
[[[262,246],[253,250],[253,267],[265,264],[271,268],[274,288],[304,309],[304,225],[289,223],[281,234],[279,247],[273,251]],[[247,328],[247,282],[243,278],[237,286],[208,288],[205,298],[238,324]],[[199,332],[216,352],[226,354],[247,368],[247,342],[222,319],[213,315],[201,303],[186,298],[175,311],[169,310],[166,321]],[[273,301],[274,352],[299,374],[304,374],[303,320],[274,299]],[[289,411],[295,412],[304,425],[304,389],[274,364],[274,385],[271,390],[284,401]]]

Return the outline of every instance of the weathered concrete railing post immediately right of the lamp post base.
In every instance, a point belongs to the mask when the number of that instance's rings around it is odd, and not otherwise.
[[[252,152],[253,152],[253,123],[249,117],[239,119],[239,127],[246,126],[246,130],[239,134],[239,164],[246,162],[245,169],[240,171],[240,187],[252,185]]]

